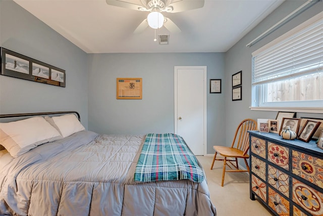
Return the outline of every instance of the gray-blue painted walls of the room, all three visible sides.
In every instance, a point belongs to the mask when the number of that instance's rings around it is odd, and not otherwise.
[[[0,1],[0,45],[66,70],[66,88],[0,76],[0,113],[76,110],[97,133],[174,132],[174,66],[207,66],[222,79],[222,94],[207,95],[207,153],[231,144],[244,118],[275,118],[251,111],[251,53],[323,10],[323,2],[267,36],[246,44],[306,1],[286,1],[227,53],[86,54],[11,0]],[[242,101],[232,101],[232,74],[242,70]],[[117,100],[117,77],[142,77],[142,100]],[[209,88],[209,86],[207,86]],[[208,91],[208,90],[207,90]],[[297,117],[322,114],[297,113]]]

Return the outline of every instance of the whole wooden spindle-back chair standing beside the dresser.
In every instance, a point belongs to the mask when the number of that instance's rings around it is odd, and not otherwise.
[[[257,122],[253,119],[247,118],[240,122],[237,127],[236,134],[234,136],[231,147],[226,146],[213,146],[213,149],[216,150],[214,154],[211,169],[213,168],[214,161],[222,160],[223,161],[223,171],[222,171],[222,183],[223,187],[225,172],[249,172],[249,165],[247,163],[247,154],[249,150],[249,133],[247,131],[255,131],[257,129]],[[224,159],[217,159],[217,154],[220,154]],[[227,159],[229,158],[229,159]],[[247,169],[239,169],[238,158],[243,158]],[[231,161],[235,161],[236,164],[233,164]],[[231,169],[226,170],[226,166],[229,166]]]

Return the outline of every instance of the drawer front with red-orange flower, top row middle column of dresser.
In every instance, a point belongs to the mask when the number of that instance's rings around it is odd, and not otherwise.
[[[288,170],[288,148],[268,142],[268,161],[271,161],[280,167]]]

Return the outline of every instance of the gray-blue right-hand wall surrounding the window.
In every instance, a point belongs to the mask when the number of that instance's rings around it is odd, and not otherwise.
[[[303,23],[309,18],[323,11],[323,2],[315,4],[313,7],[307,9],[302,14],[295,17],[290,22],[286,23],[283,27],[277,29],[272,34],[260,40],[252,47],[246,47],[250,41],[258,35],[266,31],[268,28],[275,25],[277,22],[292,13],[298,7],[307,1],[285,1],[279,8],[272,14],[267,16],[260,24],[252,29],[246,36],[237,42],[225,55],[225,95],[226,95],[226,140],[227,145],[233,139],[232,128],[244,118],[272,118],[275,119],[277,112],[272,111],[251,111],[251,53],[260,47],[266,45],[268,42],[283,35],[287,31]],[[232,101],[231,99],[231,79],[232,74],[242,70],[242,101]],[[317,117],[323,118],[323,114],[315,113],[297,113],[296,117]]]

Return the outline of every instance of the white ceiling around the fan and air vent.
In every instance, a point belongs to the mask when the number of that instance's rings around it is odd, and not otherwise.
[[[169,45],[159,45],[150,27],[133,33],[149,12],[110,6],[105,0],[14,1],[86,53],[226,52],[284,2],[205,0],[200,9],[165,12],[182,32],[161,27],[156,34],[170,34],[170,38]]]

